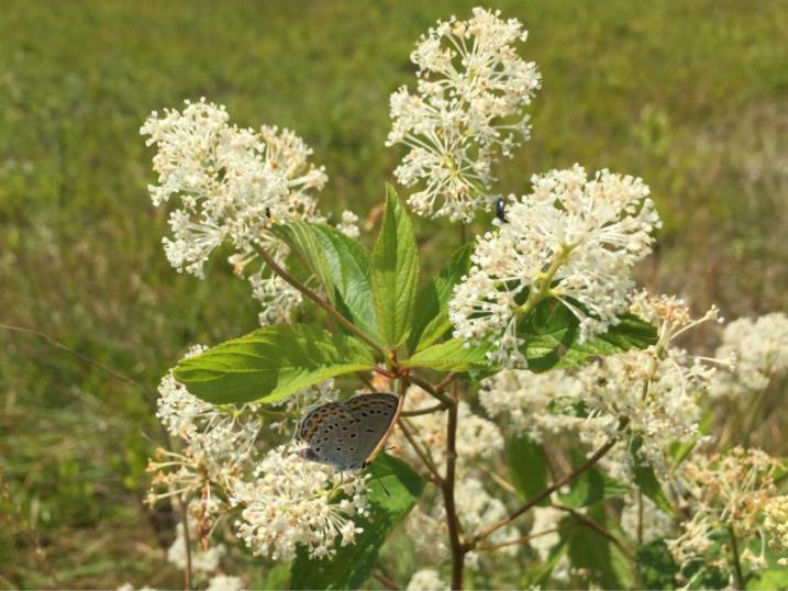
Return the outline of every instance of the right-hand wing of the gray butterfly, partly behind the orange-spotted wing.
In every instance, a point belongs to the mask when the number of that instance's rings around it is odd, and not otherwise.
[[[385,392],[359,394],[345,402],[358,427],[359,443],[353,457],[354,467],[363,468],[397,416],[399,397]]]

